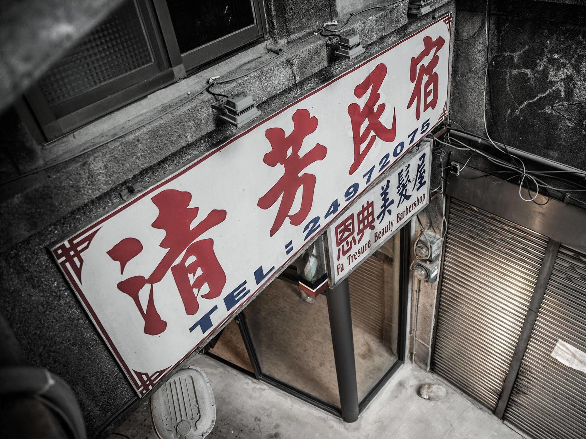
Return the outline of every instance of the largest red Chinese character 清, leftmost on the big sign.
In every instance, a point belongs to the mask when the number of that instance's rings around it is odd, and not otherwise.
[[[145,334],[161,334],[167,327],[166,321],[162,320],[155,307],[154,285],[161,282],[169,270],[179,290],[185,312],[189,315],[197,313],[197,297],[205,284],[209,290],[201,296],[205,299],[220,296],[226,284],[226,275],[214,253],[213,239],[196,241],[204,232],[224,221],[226,211],[212,210],[199,224],[192,227],[199,208],[189,207],[190,201],[189,192],[174,189],[164,190],[152,197],[152,202],[159,210],[152,227],[165,231],[165,238],[159,246],[168,250],[148,278],[132,276],[118,283],[118,290],[128,294],[141,313],[145,322]],[[142,243],[138,239],[125,238],[107,253],[110,258],[120,262],[120,271],[124,273],[127,263],[141,251]],[[183,257],[178,260],[183,252]],[[150,285],[150,292],[147,309],[144,310],[138,294],[146,285]]]

